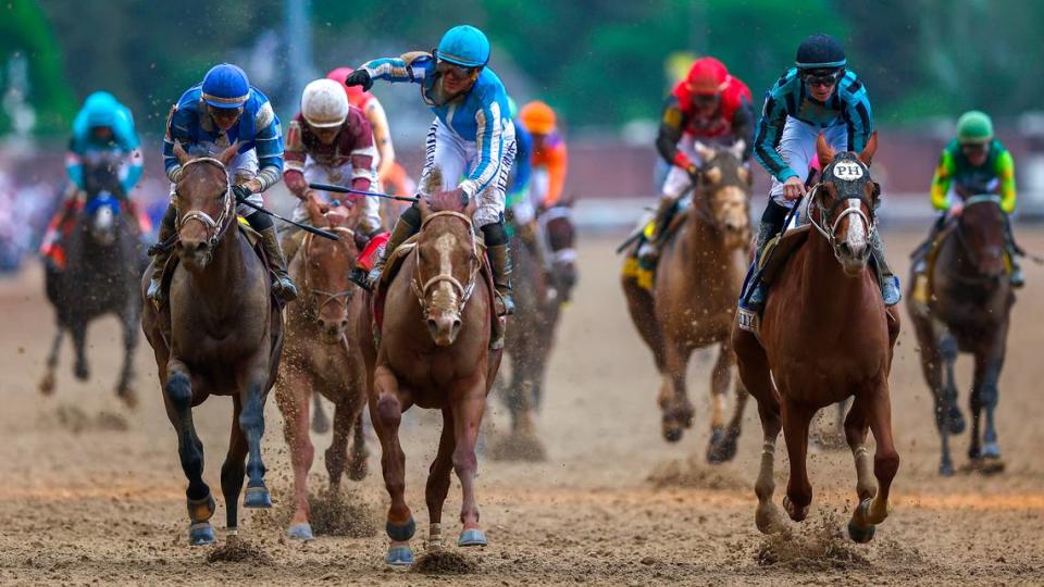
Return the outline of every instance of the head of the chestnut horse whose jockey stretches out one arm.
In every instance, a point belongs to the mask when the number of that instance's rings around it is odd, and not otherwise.
[[[471,221],[475,202],[472,199],[464,210],[437,210],[421,198],[419,207],[421,232],[417,237],[413,291],[432,340],[448,347],[460,332],[464,304],[475,288],[481,266]]]

